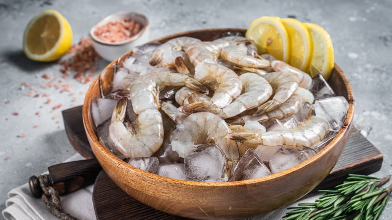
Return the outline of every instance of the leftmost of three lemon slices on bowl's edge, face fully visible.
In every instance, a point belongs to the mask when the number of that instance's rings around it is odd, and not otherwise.
[[[259,54],[268,53],[285,62],[289,59],[286,29],[277,17],[261,17],[250,23],[245,37],[253,40]]]

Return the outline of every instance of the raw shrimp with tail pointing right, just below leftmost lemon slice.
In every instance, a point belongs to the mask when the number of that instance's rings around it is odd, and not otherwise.
[[[221,57],[224,60],[230,61],[240,66],[261,68],[270,66],[268,60],[262,58],[255,58],[247,55],[247,48],[244,44],[229,45],[221,50]]]

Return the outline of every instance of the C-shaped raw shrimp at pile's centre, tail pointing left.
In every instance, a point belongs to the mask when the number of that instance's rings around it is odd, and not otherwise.
[[[213,105],[223,108],[237,98],[242,91],[240,77],[233,70],[216,63],[199,63],[195,68],[194,78],[204,85],[215,87],[214,95],[209,101],[193,102],[181,106],[179,108],[181,112],[191,113],[193,108],[199,106]]]

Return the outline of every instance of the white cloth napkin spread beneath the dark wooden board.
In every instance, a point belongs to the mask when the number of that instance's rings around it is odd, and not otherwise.
[[[80,154],[75,154],[64,162],[82,160],[84,159]],[[96,219],[94,207],[92,205],[92,190],[93,185],[89,185],[83,189],[79,189],[71,194],[61,196],[61,205],[65,211],[79,219]],[[286,207],[277,209],[275,211],[252,217],[252,220],[266,220],[281,219],[287,212],[287,207],[296,206],[300,202],[313,202],[320,194],[308,195],[299,201],[292,203]],[[57,219],[46,208],[45,203],[31,195],[28,183],[12,189],[8,193],[6,201],[6,209],[2,211],[6,219],[23,219],[23,220],[51,220]]]

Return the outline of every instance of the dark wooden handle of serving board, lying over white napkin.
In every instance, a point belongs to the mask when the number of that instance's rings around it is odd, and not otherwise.
[[[48,170],[53,187],[64,195],[94,183],[102,167],[96,159],[89,159],[56,164]]]

